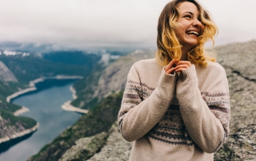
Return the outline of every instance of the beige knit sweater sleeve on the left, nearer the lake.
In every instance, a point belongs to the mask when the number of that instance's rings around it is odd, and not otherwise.
[[[145,100],[142,95],[146,95],[149,89],[145,88],[146,82],[140,81],[140,74],[146,73],[138,73],[138,69],[133,65],[127,77],[118,113],[118,126],[127,141],[134,141],[146,135],[162,119],[174,98],[176,74],[168,75],[162,69],[158,86],[152,89],[153,92]]]

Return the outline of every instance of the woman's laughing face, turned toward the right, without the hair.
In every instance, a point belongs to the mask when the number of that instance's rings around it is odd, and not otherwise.
[[[198,7],[191,2],[181,2],[178,4],[179,27],[176,35],[182,44],[182,50],[186,52],[198,45],[198,37],[202,33],[203,25],[200,22]]]

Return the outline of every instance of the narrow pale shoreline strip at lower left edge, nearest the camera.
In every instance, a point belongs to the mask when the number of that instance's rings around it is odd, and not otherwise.
[[[39,128],[39,123],[37,123],[34,127],[26,129],[22,132],[17,132],[17,133],[14,133],[14,134],[10,135],[10,136],[6,136],[4,138],[1,138],[0,143],[5,143],[7,141],[10,141],[11,139],[16,139],[16,138],[22,137],[23,135],[30,134],[30,133],[35,132],[36,130],[38,130],[38,128]]]

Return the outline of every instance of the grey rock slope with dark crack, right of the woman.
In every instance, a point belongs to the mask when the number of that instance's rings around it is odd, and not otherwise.
[[[216,48],[230,86],[230,137],[215,160],[256,160],[256,41]]]

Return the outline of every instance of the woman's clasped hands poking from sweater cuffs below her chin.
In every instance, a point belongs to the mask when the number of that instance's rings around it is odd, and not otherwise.
[[[178,61],[177,59],[173,59],[168,65],[166,65],[165,72],[166,74],[173,74],[174,72],[181,72],[190,66],[190,61]]]

